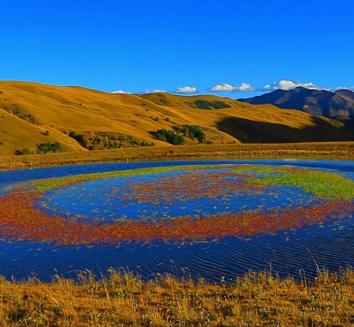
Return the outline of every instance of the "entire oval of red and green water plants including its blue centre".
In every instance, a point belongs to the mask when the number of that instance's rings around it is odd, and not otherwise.
[[[95,209],[97,217],[90,218],[70,211],[78,197],[62,211],[51,211],[43,203],[64,191],[71,200],[68,188],[82,187],[80,196],[97,206],[98,193],[85,194],[87,183],[100,183],[103,205],[113,203],[110,210]],[[272,234],[350,216],[353,186],[351,179],[334,172],[258,165],[170,166],[49,178],[13,185],[0,197],[0,233],[11,240],[57,244]],[[133,212],[133,205],[148,209]],[[194,211],[186,211],[188,206]],[[129,209],[125,215],[115,216],[125,207]],[[155,216],[147,215],[149,210]]]

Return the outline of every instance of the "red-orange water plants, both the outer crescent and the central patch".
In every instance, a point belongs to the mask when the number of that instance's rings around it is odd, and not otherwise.
[[[209,168],[206,166],[205,168]],[[263,181],[262,178],[284,176],[283,185],[295,183],[291,180],[301,178],[299,170],[284,170],[270,175],[251,167],[227,167],[226,170],[215,172],[189,171],[177,177],[164,176],[160,179],[162,184],[154,181],[129,181],[134,190],[130,200],[147,203],[168,203],[175,194],[175,198],[188,201],[198,197],[215,199],[216,197],[232,196],[233,193],[255,193],[259,190],[268,190],[272,181]],[[268,175],[267,175],[268,174]],[[295,176],[299,174],[299,176]],[[313,171],[310,172],[313,174]],[[295,177],[294,177],[295,176]],[[320,177],[319,177],[320,176]],[[316,178],[323,177],[320,173]],[[333,176],[332,176],[333,177]],[[331,177],[331,178],[332,178]],[[194,179],[193,179],[194,178]],[[237,178],[237,180],[235,179]],[[257,179],[258,178],[258,179]],[[338,177],[339,178],[339,177]],[[87,180],[92,179],[87,178]],[[80,177],[80,181],[85,178]],[[178,183],[176,182],[178,180]],[[72,181],[75,183],[77,181]],[[351,182],[351,181],[350,181]],[[262,184],[263,183],[263,184]],[[279,182],[280,184],[282,181]],[[297,183],[297,182],[296,182]],[[67,183],[68,184],[68,183]],[[159,186],[160,185],[160,186]],[[161,189],[165,185],[165,190]],[[332,184],[326,184],[326,190]],[[333,184],[335,185],[335,184]],[[308,190],[305,184],[300,185],[305,192],[312,192],[318,196],[318,201],[310,206],[273,207],[267,210],[243,210],[238,212],[219,212],[216,214],[184,215],[164,219],[141,219],[121,221],[87,221],[72,217],[63,217],[59,214],[50,214],[38,206],[39,198],[45,191],[23,188],[21,192],[14,189],[10,193],[0,196],[0,235],[5,239],[29,240],[33,242],[48,242],[56,244],[92,244],[92,243],[121,243],[121,242],[147,242],[156,239],[171,240],[205,240],[225,236],[244,237],[259,233],[275,233],[279,230],[299,228],[324,221],[347,217],[354,211],[354,204],[348,196],[320,196],[319,190]],[[335,186],[333,186],[335,187]],[[160,191],[161,194],[158,194]],[[163,192],[162,192],[163,191]],[[184,192],[184,193],[183,193]],[[317,192],[317,193],[316,193]],[[181,195],[184,195],[181,198]],[[118,195],[117,195],[118,196]],[[126,195],[120,195],[127,199]],[[176,200],[172,199],[172,200]]]

